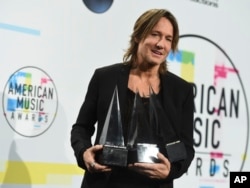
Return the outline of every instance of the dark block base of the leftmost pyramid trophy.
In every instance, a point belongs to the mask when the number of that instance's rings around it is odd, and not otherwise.
[[[99,162],[108,166],[127,166],[128,150],[123,146],[104,145]]]

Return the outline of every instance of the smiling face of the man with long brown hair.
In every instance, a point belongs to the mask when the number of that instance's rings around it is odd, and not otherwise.
[[[173,26],[168,19],[162,17],[146,38],[139,41],[137,63],[159,66],[166,60],[172,40]]]

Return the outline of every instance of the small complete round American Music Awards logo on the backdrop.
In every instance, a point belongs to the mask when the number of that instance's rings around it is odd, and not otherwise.
[[[44,133],[53,123],[58,97],[53,79],[40,68],[23,67],[7,81],[3,93],[4,116],[10,127],[25,137]]]

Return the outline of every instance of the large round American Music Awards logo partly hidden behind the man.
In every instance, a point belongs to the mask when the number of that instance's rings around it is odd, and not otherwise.
[[[187,177],[195,177],[196,187],[229,187],[230,172],[243,169],[249,140],[240,72],[222,48],[198,35],[181,36],[179,51],[167,61],[170,71],[194,85],[196,153]]]

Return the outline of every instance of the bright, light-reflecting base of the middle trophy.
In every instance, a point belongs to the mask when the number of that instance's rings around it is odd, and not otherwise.
[[[158,153],[156,144],[138,143],[136,148],[129,150],[128,163],[158,163]]]

